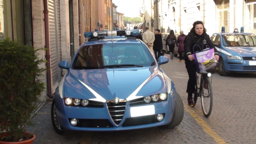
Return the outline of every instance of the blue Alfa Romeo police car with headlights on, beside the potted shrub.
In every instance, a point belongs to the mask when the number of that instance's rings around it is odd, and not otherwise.
[[[53,128],[121,131],[149,127],[174,128],[184,105],[174,83],[160,69],[151,51],[135,38],[139,30],[85,32],[72,62],[54,92]]]

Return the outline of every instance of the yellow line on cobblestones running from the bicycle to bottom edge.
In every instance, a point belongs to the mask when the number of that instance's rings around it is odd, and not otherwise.
[[[215,133],[212,128],[206,124],[206,122],[198,116],[198,114],[192,110],[187,104],[184,103],[184,109],[192,116],[197,123],[203,128],[203,130],[212,137],[218,144],[228,144],[223,138],[221,138],[217,133]]]

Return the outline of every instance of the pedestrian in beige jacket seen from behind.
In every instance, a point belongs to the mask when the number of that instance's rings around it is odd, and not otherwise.
[[[142,35],[143,42],[148,46],[150,51],[153,53],[153,45],[155,41],[155,35],[153,32],[151,32],[148,28],[148,26],[145,27],[145,32]]]

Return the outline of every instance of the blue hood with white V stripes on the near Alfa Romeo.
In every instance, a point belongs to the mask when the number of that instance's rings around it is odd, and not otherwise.
[[[137,99],[166,92],[163,73],[157,66],[69,70],[65,97],[105,102],[114,98]]]

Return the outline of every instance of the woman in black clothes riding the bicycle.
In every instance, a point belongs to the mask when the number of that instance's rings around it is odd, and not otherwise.
[[[214,48],[214,55],[215,59],[218,61],[219,60],[219,55],[217,52],[217,49],[215,46],[212,44],[212,41],[210,40],[209,35],[206,34],[206,29],[204,28],[203,22],[202,21],[196,21],[193,24],[193,28],[190,30],[190,33],[187,35],[184,41],[184,54],[185,56],[185,64],[186,64],[186,69],[188,73],[188,82],[187,82],[187,102],[190,106],[193,106],[193,100],[192,100],[192,95],[195,92],[195,86],[196,86],[196,65],[194,58],[192,54],[194,51],[201,51],[201,49],[206,49],[206,45],[209,45],[210,48]],[[194,47],[194,45],[198,46]],[[203,46],[203,47],[202,47]]]

